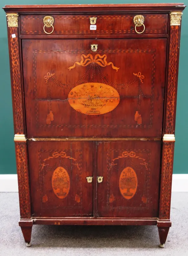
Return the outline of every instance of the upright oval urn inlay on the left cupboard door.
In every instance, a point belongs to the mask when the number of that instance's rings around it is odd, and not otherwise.
[[[65,198],[70,190],[70,178],[68,172],[63,167],[55,169],[52,175],[52,188],[57,197]]]

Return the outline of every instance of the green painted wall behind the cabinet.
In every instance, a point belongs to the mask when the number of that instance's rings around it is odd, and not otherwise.
[[[143,3],[146,1],[140,0],[134,3]],[[164,1],[154,0],[147,3],[163,3]],[[171,3],[171,1],[166,1]],[[88,4],[88,0],[1,0],[1,6],[5,4]],[[118,2],[114,0],[95,0],[92,3],[130,3],[130,1]],[[188,5],[188,0],[184,1]],[[12,114],[12,99],[10,86],[10,71],[8,57],[8,41],[7,41],[7,26],[6,17],[3,9],[0,10],[0,174],[15,174],[16,161],[13,143],[13,114]],[[174,158],[174,173],[188,173],[187,160],[187,145],[188,145],[188,115],[187,115],[187,68],[188,68],[188,7],[182,16],[181,29],[181,50],[180,50],[180,67],[178,81],[178,100],[177,100],[177,118],[176,118],[176,143],[175,143],[175,158]]]

